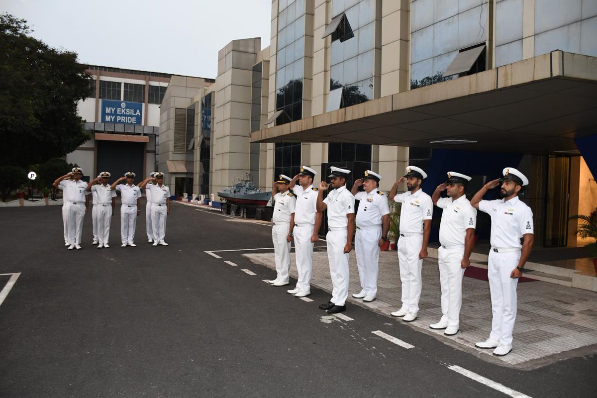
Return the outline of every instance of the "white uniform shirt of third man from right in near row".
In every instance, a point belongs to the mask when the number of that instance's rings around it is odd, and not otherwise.
[[[394,196],[394,202],[402,203],[400,232],[422,233],[423,220],[431,220],[433,216],[431,196],[424,193],[422,189],[418,189],[415,193],[410,191],[398,193]]]

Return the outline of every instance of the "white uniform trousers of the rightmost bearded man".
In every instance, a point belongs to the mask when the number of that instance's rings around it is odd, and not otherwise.
[[[491,294],[490,339],[512,345],[512,331],[516,321],[516,286],[518,279],[510,277],[521,259],[520,251],[489,252],[487,276]]]

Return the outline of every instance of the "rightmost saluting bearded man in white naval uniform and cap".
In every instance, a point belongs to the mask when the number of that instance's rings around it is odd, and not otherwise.
[[[491,251],[487,276],[491,294],[491,334],[478,348],[494,348],[504,356],[512,351],[512,331],[516,321],[516,286],[533,248],[533,211],[518,195],[528,178],[515,168],[503,169],[503,178],[485,184],[470,204],[491,217]],[[502,199],[482,200],[488,190],[501,183]],[[523,243],[521,245],[521,237]]]

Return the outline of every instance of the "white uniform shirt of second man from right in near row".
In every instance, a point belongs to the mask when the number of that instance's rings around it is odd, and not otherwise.
[[[466,230],[476,227],[477,210],[470,205],[466,195],[456,200],[439,198],[436,206],[444,209],[439,224],[439,243],[442,246],[464,245]]]

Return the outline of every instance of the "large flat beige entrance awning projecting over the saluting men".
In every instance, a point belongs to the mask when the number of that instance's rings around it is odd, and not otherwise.
[[[576,150],[597,132],[597,57],[553,51],[251,133],[251,142],[341,142],[515,153]]]

